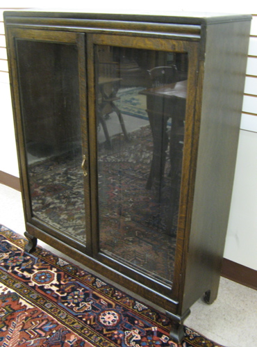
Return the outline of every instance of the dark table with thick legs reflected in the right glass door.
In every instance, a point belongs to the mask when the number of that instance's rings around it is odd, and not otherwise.
[[[168,144],[171,177],[175,177],[176,172],[181,170],[187,85],[188,81],[179,81],[140,92],[140,94],[147,96],[147,113],[154,142],[147,189],[154,186],[160,192]],[[170,138],[167,134],[169,118],[171,118],[172,123]]]

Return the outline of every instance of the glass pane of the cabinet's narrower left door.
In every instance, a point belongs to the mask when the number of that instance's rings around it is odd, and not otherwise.
[[[17,40],[33,216],[85,243],[76,45]]]

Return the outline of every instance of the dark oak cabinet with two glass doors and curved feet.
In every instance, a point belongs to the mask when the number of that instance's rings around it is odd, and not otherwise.
[[[249,15],[6,12],[26,250],[36,239],[165,310],[213,302]]]

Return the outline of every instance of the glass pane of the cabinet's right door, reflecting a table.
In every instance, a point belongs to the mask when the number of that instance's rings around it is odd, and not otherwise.
[[[96,46],[100,249],[171,284],[187,54]]]

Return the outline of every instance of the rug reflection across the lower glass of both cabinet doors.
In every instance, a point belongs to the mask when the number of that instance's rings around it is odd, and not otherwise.
[[[165,166],[161,200],[145,188],[152,152],[149,126],[134,131],[129,143],[119,134],[113,138],[112,150],[99,147],[101,249],[129,266],[170,283],[174,273],[177,213],[171,217],[169,161]],[[81,155],[63,154],[29,166],[28,172],[35,216],[85,243],[80,168]]]

